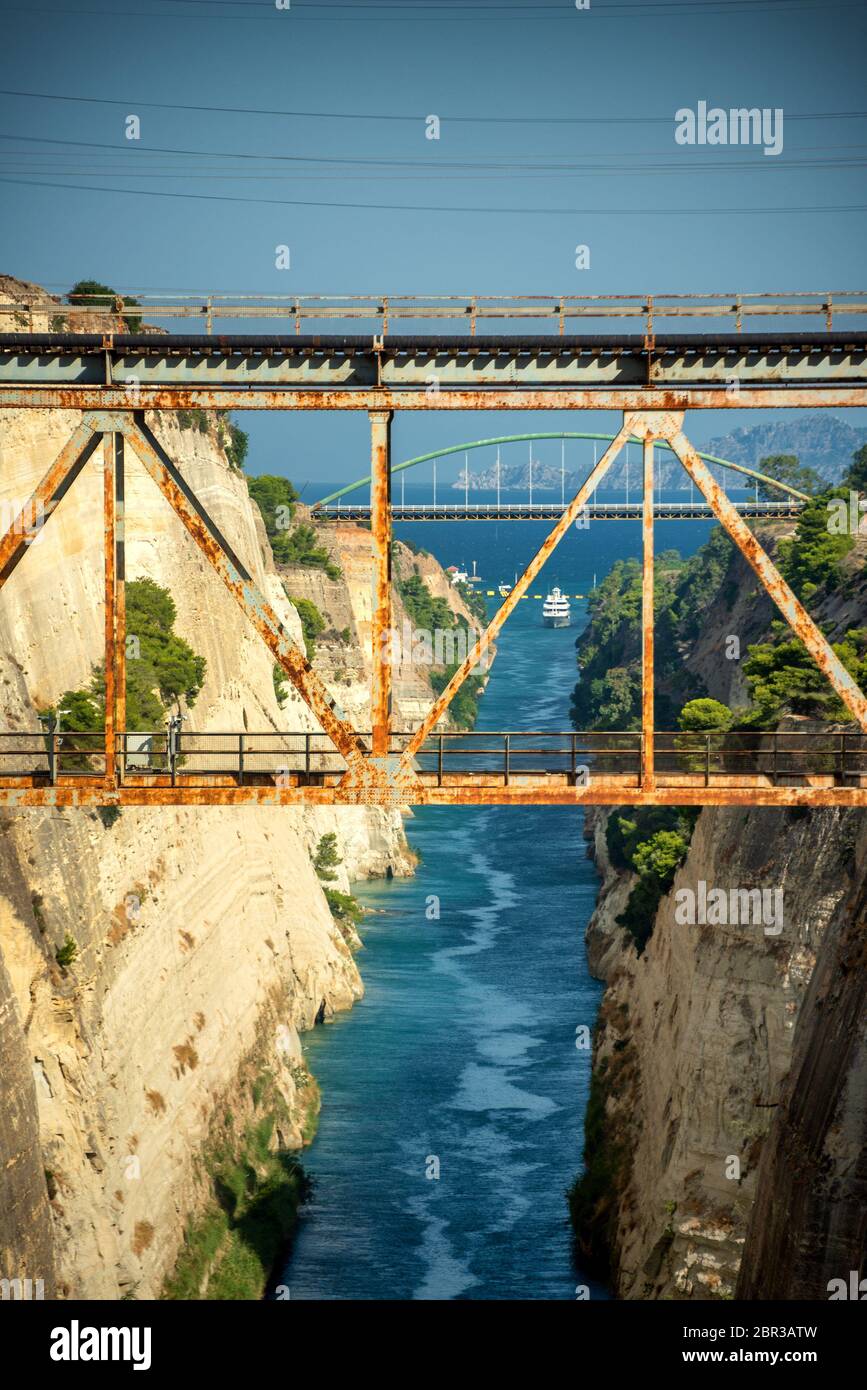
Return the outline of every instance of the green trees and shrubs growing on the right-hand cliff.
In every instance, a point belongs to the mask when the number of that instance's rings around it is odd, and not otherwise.
[[[778,475],[810,491],[811,480],[795,473],[796,459],[771,463],[778,464]],[[825,489],[804,506],[795,535],[778,542],[775,559],[788,582],[823,626],[843,666],[864,687],[867,628],[849,624],[857,603],[864,605],[867,582],[863,570],[853,563],[854,556],[848,559],[854,545],[850,528],[835,531],[829,525],[835,499],[850,506],[849,489],[867,491],[867,446],[856,453],[842,489]],[[702,689],[700,678],[686,670],[682,653],[691,642],[706,627],[725,631],[713,620],[731,612],[735,600],[739,600],[738,612],[743,613],[745,591],[738,594],[732,557],[734,550],[725,535],[714,531],[691,562],[675,566],[677,573],[666,587],[660,588],[657,580],[657,671],[666,687],[666,714],[674,716],[675,727],[684,734],[675,746],[688,749],[689,735],[706,733],[735,744],[741,730],[774,728],[779,719],[792,713],[835,723],[849,720],[849,713],[813,657],[784,623],[771,623],[761,634],[763,641],[746,646],[742,670],[749,705],[745,708],[729,709],[721,701],[710,699]],[[716,614],[711,613],[714,606],[718,610]],[[596,591],[591,624],[577,644],[582,670],[574,699],[578,727],[638,727],[639,637],[641,569],[634,562],[621,562]],[[675,655],[677,671],[672,670]],[[611,716],[622,721],[611,724]],[[696,817],[697,809],[617,808],[607,820],[611,863],[636,876],[617,923],[628,931],[639,954],[653,930],[660,898],[671,887],[688,852]],[[599,1275],[610,1275],[611,1262],[617,1258],[616,1233],[624,1219],[621,1198],[628,1186],[634,1147],[629,1113],[635,1087],[631,1091],[624,1084],[624,1077],[635,1076],[629,1070],[634,1042],[622,992],[617,998],[620,1002],[614,1006],[611,995],[606,995],[600,1011],[586,1112],[585,1170],[568,1193],[582,1262]],[[652,1255],[656,1258],[672,1238],[668,1223]],[[642,1268],[647,1270],[647,1265]]]

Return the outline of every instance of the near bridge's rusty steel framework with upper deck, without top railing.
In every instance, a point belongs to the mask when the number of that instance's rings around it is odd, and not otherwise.
[[[3,306],[0,306],[1,309]],[[381,306],[379,306],[381,307]],[[477,306],[478,307],[478,306]],[[645,306],[646,309],[646,306]],[[864,313],[857,303],[850,313]],[[643,310],[642,310],[643,311]],[[729,310],[727,310],[729,311]],[[793,310],[795,311],[795,310]],[[803,306],[798,313],[803,313]],[[814,311],[814,310],[810,310]],[[550,313],[550,306],[546,310]],[[520,317],[520,316],[518,316]],[[529,314],[528,317],[532,317]],[[810,614],[710,474],[684,432],[684,411],[704,409],[864,406],[867,334],[789,329],[785,334],[642,335],[517,334],[428,336],[188,336],[181,334],[4,334],[0,335],[0,410],[75,409],[81,423],[47,468],[10,531],[0,538],[0,587],[26,555],[29,520],[50,513],[97,449],[104,452],[106,728],[101,767],[64,776],[49,737],[47,770],[0,776],[0,805],[249,805],[249,803],[713,803],[867,805],[867,699]],[[182,473],[149,428],[149,409],[181,410],[364,410],[371,428],[372,613],[371,731],[346,721],[306,656],[257,588],[243,559],[208,516]],[[560,509],[547,538],[479,634],[425,719],[411,733],[392,727],[392,667],[385,657],[392,630],[392,452],[399,410],[589,410],[622,413],[622,424],[574,498]],[[528,766],[534,752],[510,760],[510,739],[542,742],[553,735],[486,734],[497,760],[482,769],[446,766],[442,717],[468,674],[629,439],[643,456],[642,720],[641,734],[602,735],[616,746],[593,746],[593,735],[570,734],[553,767]],[[731,770],[729,752],[703,769],[693,752],[663,767],[657,749],[668,735],[654,728],[653,703],[653,446],[677,455],[710,513],[725,528],[856,721],[839,746],[817,759],[799,755],[779,773],[779,738],[767,735],[756,758]],[[208,776],[179,763],[167,746],[165,764],[147,773],[126,758],[124,474],[129,445],[308,705],[327,737],[325,755],[251,771],[243,735],[231,767]],[[207,738],[207,735],[201,735]],[[228,735],[226,735],[228,737]],[[232,735],[235,737],[235,735]],[[314,735],[322,737],[322,735]],[[629,744],[632,739],[632,744]],[[579,741],[577,744],[575,741]],[[617,742],[620,741],[620,742]],[[624,770],[617,755],[629,752]],[[493,749],[484,748],[485,755]],[[535,751],[540,753],[540,749]],[[674,749],[677,752],[677,749]],[[504,753],[500,758],[500,753]],[[766,753],[773,756],[768,770]],[[578,764],[578,755],[588,763]],[[666,759],[672,749],[666,744]],[[761,755],[761,756],[759,756]],[[432,762],[434,759],[434,762]],[[663,759],[663,762],[666,762]],[[717,767],[720,763],[720,767]]]

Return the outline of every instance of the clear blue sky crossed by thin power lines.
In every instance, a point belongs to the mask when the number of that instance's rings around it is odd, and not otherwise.
[[[214,293],[861,288],[861,4],[3,0],[0,22],[0,270],[58,292],[90,275]],[[700,100],[781,107],[782,154],[678,146],[674,113]],[[365,471],[363,416],[242,423],[253,471],[311,489]],[[559,423],[402,417],[395,452]]]

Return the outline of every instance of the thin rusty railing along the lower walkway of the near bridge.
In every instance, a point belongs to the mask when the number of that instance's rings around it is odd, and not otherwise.
[[[392,733],[388,756],[397,759],[410,734]],[[371,755],[372,735],[358,735]],[[346,759],[321,733],[231,730],[197,733],[170,728],[117,735],[119,785],[165,783],[220,785],[327,783],[346,771]],[[656,776],[667,787],[793,787],[810,781],[857,787],[867,780],[867,734],[854,726],[811,730],[735,730],[729,733],[659,731],[654,734]],[[422,744],[415,770],[424,784],[503,787],[528,778],[554,778],[564,785],[617,781],[638,785],[642,734],[638,731],[463,733],[436,730]],[[106,776],[101,730],[40,730],[0,733],[0,788],[60,785]]]

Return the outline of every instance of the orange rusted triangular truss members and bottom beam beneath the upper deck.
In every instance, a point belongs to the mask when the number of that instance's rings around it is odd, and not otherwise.
[[[103,388],[104,395],[111,388]],[[0,403],[1,400],[0,392]],[[189,403],[196,392],[185,392]],[[504,392],[510,409],[521,409],[521,392]],[[785,392],[791,396],[792,392]],[[465,409],[465,396],[461,404]],[[846,708],[867,733],[867,699],[845,670],[823,632],[796,599],[773,560],[759,545],[745,521],[738,516],[725,492],[713,480],[682,431],[679,410],[642,409],[627,411],[621,430],[596,463],[582,486],[568,503],[536,555],[529,560],[511,592],[477,639],[467,659],[457,669],[446,688],[434,701],[431,710],[411,734],[399,756],[389,755],[392,745],[390,669],[385,659],[386,637],[392,628],[392,516],[390,516],[390,420],[392,411],[377,393],[371,409],[371,559],[375,575],[375,603],[372,621],[372,745],[367,752],[361,735],[335,710],[306,656],[295,646],[254,584],[250,571],[233,553],[226,538],[208,516],[201,500],[195,496],[182,474],[168,457],[144,421],[138,403],[135,410],[93,410],[85,414],[68,443],[60,452],[31,500],[6,537],[0,538],[0,588],[26,553],[28,517],[42,507],[46,516],[72,486],[100,439],[104,441],[104,591],[106,591],[106,776],[88,780],[88,785],[36,785],[33,780],[0,778],[0,805],[61,806],[61,805],[297,805],[297,803],[699,803],[742,805],[867,805],[867,787],[667,787],[654,769],[653,721],[653,443],[667,441],[681,459],[686,473],[704,495],[731,539],[756,571],[759,581],[771,595],[786,623],[803,641],[818,667],[828,677]],[[654,398],[659,399],[659,398]],[[32,396],[28,398],[32,402]],[[813,400],[816,403],[816,400]],[[645,489],[642,503],[643,580],[642,580],[642,758],[638,785],[616,776],[591,777],[586,785],[552,787],[545,780],[536,784],[515,784],[492,788],[481,785],[474,774],[465,774],[449,785],[431,787],[417,773],[414,759],[465,681],[484,657],[497,632],[514,610],[545,562],[582,512],[588,498],[604,477],[607,468],[631,439],[643,441]],[[324,785],[207,785],[179,787],[160,784],[151,778],[147,785],[135,785],[117,764],[117,733],[124,727],[125,688],[125,621],[124,621],[124,445],[128,442],[157,484],[170,506],[179,516],[192,539],[218,573],[239,603],[242,612],[260,632],[275,660],[299,689],[313,710],[335,749],[346,760],[347,770]]]

